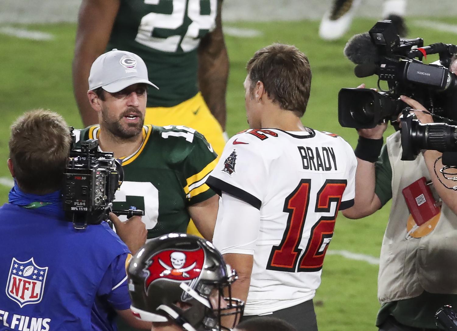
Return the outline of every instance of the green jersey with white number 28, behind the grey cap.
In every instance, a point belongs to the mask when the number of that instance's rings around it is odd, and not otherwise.
[[[173,107],[198,92],[197,48],[216,27],[221,0],[121,0],[107,50],[138,54],[149,80],[148,107]]]

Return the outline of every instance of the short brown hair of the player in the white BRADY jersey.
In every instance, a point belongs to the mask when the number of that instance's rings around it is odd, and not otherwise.
[[[293,45],[274,43],[255,52],[246,69],[251,91],[261,81],[268,97],[281,109],[302,117],[311,91],[311,68],[306,55]]]

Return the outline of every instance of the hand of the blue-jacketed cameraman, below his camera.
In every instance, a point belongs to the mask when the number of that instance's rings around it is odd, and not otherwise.
[[[140,216],[133,216],[122,222],[115,214],[109,214],[110,220],[116,228],[116,233],[127,245],[132,254],[135,254],[144,245],[148,236],[148,230],[141,221]]]

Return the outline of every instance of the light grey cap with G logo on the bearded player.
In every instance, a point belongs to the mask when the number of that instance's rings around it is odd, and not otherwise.
[[[101,87],[107,92],[116,93],[138,83],[159,89],[149,81],[146,64],[137,54],[114,48],[101,54],[90,67],[89,90]]]

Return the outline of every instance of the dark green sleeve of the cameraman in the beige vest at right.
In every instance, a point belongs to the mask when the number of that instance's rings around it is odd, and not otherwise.
[[[374,192],[383,207],[392,198],[392,168],[390,166],[387,145],[381,149],[381,154],[375,163],[376,186]]]

